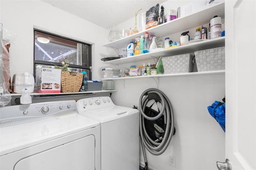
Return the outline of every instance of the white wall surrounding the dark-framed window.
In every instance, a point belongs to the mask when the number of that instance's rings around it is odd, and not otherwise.
[[[10,75],[29,72],[33,74],[33,28],[42,28],[57,35],[66,36],[92,45],[92,77],[100,80],[103,67],[100,58],[109,49],[102,47],[108,40],[108,30],[71,15],[41,0],[1,0],[0,22],[16,34],[10,46]],[[100,38],[98,38],[100,37]],[[97,63],[97,64],[96,64]]]

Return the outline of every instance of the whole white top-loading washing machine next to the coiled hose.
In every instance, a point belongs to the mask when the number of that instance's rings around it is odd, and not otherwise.
[[[110,97],[76,102],[78,113],[100,122],[101,169],[139,169],[139,111],[116,106]]]

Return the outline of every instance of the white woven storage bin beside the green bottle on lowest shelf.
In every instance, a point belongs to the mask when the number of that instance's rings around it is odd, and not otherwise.
[[[181,54],[162,57],[164,74],[188,73],[193,71],[194,55]]]

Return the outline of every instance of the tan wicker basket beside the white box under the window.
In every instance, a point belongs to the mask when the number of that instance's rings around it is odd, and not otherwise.
[[[82,85],[83,73],[75,73],[69,71],[61,72],[61,92],[71,93],[78,92]]]

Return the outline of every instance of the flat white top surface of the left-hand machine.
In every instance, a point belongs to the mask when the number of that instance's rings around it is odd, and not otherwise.
[[[99,122],[74,112],[0,127],[0,156],[99,125]]]

